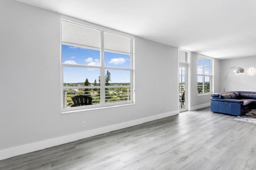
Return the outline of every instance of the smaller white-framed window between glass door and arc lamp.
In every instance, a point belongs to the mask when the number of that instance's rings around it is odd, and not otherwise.
[[[198,55],[197,58],[198,94],[212,93],[212,59]]]

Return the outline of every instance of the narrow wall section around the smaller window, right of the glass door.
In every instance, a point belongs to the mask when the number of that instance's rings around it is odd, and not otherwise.
[[[190,110],[199,109],[202,107],[210,106],[210,98],[211,94],[203,94],[198,95],[197,92],[197,53],[191,53],[191,86],[190,86],[190,93],[191,93],[191,103],[190,103]],[[214,59],[213,64],[213,92],[219,92],[219,60]]]

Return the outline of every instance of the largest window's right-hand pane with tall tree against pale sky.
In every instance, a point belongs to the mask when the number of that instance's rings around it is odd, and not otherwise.
[[[105,70],[106,86],[130,86],[129,70]]]

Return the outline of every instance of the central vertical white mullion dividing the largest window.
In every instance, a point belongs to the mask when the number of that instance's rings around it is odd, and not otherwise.
[[[105,105],[104,32],[100,31],[100,104]]]

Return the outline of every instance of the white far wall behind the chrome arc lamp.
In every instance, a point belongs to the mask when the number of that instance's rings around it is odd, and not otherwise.
[[[244,68],[244,74],[233,74],[234,68],[230,71],[226,79],[225,91],[256,91],[256,56],[241,57],[236,59],[226,59],[220,61],[220,91],[224,90],[224,80],[226,74],[233,66]],[[254,74],[250,74],[250,68],[254,69]]]

